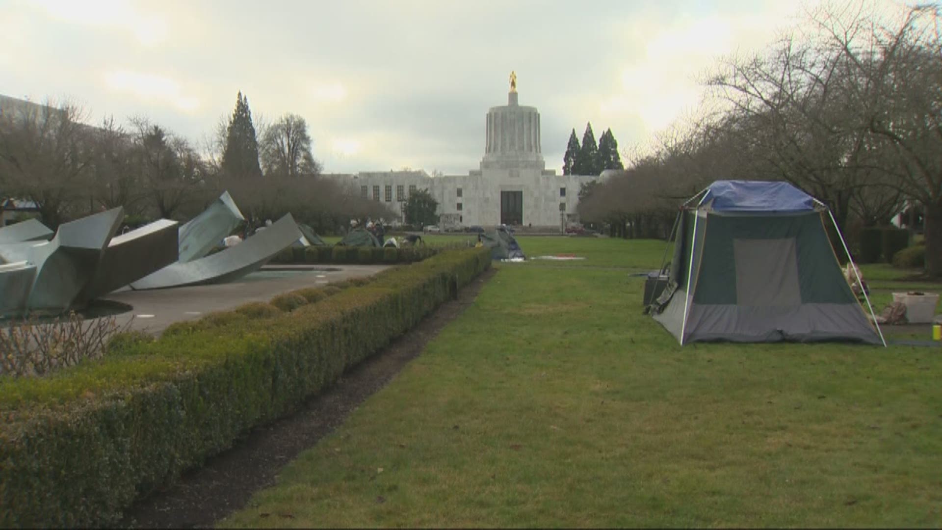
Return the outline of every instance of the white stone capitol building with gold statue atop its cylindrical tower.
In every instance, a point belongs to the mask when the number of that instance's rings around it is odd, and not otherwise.
[[[442,229],[507,224],[560,230],[578,219],[579,187],[599,175],[547,170],[540,141],[540,112],[518,103],[512,75],[507,105],[487,112],[479,169],[447,176],[424,171],[330,176],[352,183],[363,197],[389,203],[396,211],[409,193],[429,190],[438,201]]]

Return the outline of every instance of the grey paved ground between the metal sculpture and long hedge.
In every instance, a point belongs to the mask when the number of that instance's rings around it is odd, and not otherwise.
[[[122,290],[104,297],[134,307],[118,315],[118,324],[131,321],[131,329],[160,333],[168,325],[199,319],[207,313],[231,309],[246,302],[268,302],[287,290],[329,285],[362,278],[387,269],[385,265],[272,265],[231,283],[156,290]],[[133,319],[133,320],[132,320]]]

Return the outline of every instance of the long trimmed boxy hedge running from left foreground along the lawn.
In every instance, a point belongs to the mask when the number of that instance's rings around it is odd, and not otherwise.
[[[309,302],[289,312],[278,308],[285,297],[246,305],[228,321],[219,313],[159,340],[122,340],[50,377],[0,378],[0,526],[119,521],[135,499],[296,409],[490,265],[488,249],[442,252],[333,295],[296,291]]]

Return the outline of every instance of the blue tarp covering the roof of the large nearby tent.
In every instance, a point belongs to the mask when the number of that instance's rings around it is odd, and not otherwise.
[[[717,180],[707,188],[703,205],[716,211],[812,211],[815,199],[788,182]]]

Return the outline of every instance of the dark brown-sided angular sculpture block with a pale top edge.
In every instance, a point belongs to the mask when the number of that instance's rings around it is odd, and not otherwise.
[[[75,304],[85,304],[176,261],[179,225],[161,219],[112,238],[94,277],[76,297]]]

